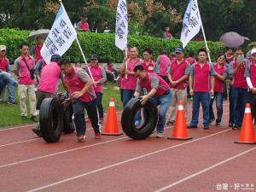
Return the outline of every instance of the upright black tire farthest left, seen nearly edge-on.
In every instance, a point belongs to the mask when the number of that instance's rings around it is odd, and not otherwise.
[[[47,143],[58,142],[63,130],[63,112],[56,98],[45,98],[39,114],[40,130]]]

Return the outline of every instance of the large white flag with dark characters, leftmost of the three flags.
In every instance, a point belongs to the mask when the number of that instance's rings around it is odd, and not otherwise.
[[[67,16],[67,12],[61,3],[55,22],[40,51],[44,61],[49,64],[51,55],[63,55],[71,46],[75,38],[77,38],[77,32],[73,28],[73,25]]]

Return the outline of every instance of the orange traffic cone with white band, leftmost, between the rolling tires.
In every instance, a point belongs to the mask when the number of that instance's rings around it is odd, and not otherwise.
[[[105,130],[102,133],[105,136],[120,136],[123,133],[119,133],[119,126],[117,123],[116,111],[114,106],[113,98],[110,98],[109,107],[108,107],[108,116],[105,125]]]

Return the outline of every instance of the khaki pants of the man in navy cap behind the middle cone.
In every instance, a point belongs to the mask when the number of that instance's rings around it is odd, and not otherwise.
[[[172,88],[172,102],[168,110],[168,121],[175,121],[177,114],[177,104],[183,102],[185,119],[187,119],[187,89],[179,90]]]

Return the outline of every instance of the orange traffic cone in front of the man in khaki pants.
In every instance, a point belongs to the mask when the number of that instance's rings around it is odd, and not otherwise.
[[[183,102],[180,101],[178,102],[178,105],[177,105],[177,115],[175,119],[175,125],[173,129],[172,137],[167,137],[167,139],[189,140],[192,138],[193,137],[188,137]]]

